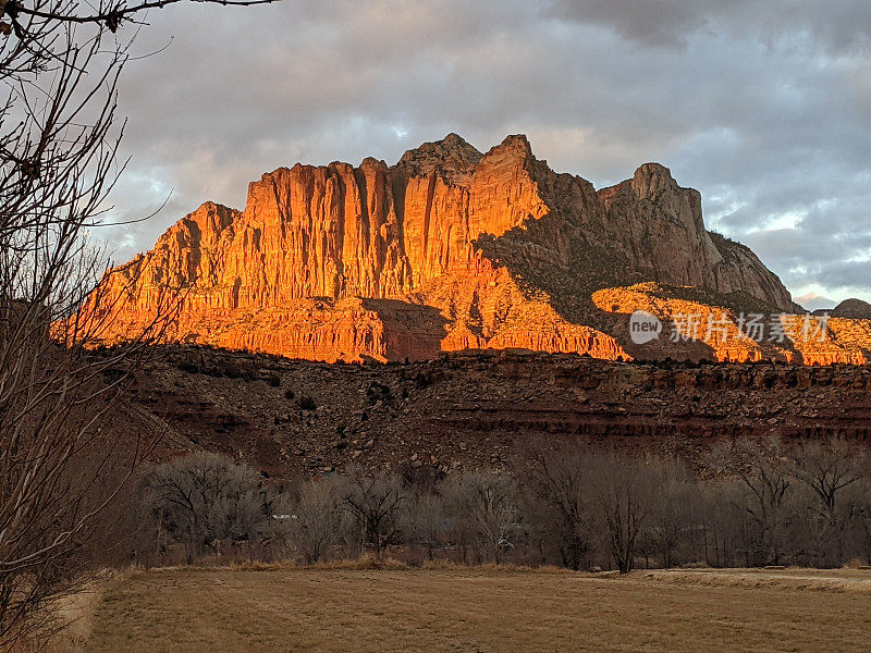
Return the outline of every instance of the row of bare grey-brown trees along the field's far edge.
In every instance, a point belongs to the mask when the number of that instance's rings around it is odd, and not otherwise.
[[[144,565],[391,556],[407,564],[834,567],[871,562],[871,473],[839,440],[736,441],[704,475],[615,451],[542,451],[528,471],[352,470],[273,485],[196,453],[144,471],[124,525]]]

